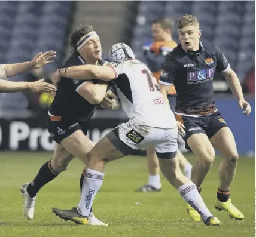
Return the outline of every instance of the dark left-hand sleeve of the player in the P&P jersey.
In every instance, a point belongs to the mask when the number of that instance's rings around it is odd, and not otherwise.
[[[159,83],[163,85],[172,85],[174,82],[174,79],[176,78],[178,70],[179,70],[178,61],[172,58],[166,58],[166,60],[164,60],[164,63],[161,69]]]

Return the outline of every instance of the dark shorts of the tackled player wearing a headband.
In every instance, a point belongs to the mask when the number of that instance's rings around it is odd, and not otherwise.
[[[75,131],[81,129],[84,135],[90,125],[90,118],[87,121],[80,121],[80,119],[63,119],[61,121],[51,121],[50,116],[47,118],[47,129],[50,136],[56,143],[59,143],[66,137],[70,136]]]

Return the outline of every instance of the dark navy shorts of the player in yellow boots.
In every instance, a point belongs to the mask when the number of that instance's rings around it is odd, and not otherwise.
[[[185,136],[183,137],[186,149],[190,150],[187,144],[188,138],[192,134],[204,133],[210,139],[221,128],[228,127],[220,112],[214,112],[200,117],[191,117],[185,115],[175,115],[177,121],[185,126]]]

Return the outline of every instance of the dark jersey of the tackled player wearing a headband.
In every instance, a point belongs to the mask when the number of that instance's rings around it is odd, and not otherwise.
[[[112,61],[108,56],[104,57],[108,61]],[[99,60],[102,65],[105,59]],[[66,60],[63,67],[72,67],[86,64],[81,56],[70,57]],[[88,80],[87,80],[88,81]],[[95,105],[90,104],[80,94],[77,93],[78,89],[84,82],[71,78],[63,78],[57,86],[56,96],[53,103],[51,103],[49,112],[51,115],[62,116],[62,119],[80,119],[86,121],[93,116]],[[91,80],[97,83],[97,79]]]

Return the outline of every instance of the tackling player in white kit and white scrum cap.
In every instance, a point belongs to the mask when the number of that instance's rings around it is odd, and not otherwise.
[[[53,208],[53,212],[64,220],[87,224],[93,200],[102,185],[106,163],[135,150],[154,146],[161,171],[170,184],[201,214],[206,225],[219,226],[220,221],[209,212],[195,184],[179,168],[176,121],[164,101],[156,78],[145,64],[135,59],[133,51],[126,44],[113,45],[109,54],[115,63],[68,67],[60,69],[59,73],[62,80],[98,78],[113,81],[123,110],[130,120],[114,128],[90,150],[78,207],[71,210]]]

